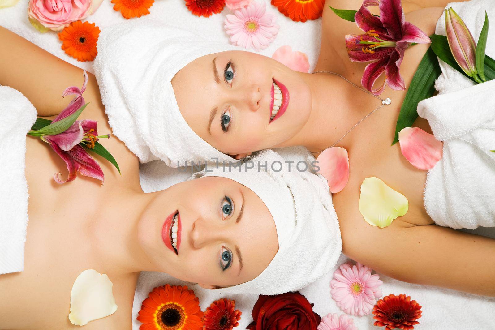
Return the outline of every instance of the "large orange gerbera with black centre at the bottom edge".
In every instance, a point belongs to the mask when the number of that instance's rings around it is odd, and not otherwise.
[[[201,330],[203,312],[199,299],[187,286],[155,287],[143,300],[138,321],[140,330]]]

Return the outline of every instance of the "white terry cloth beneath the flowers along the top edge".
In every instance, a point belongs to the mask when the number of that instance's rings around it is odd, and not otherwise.
[[[270,0],[257,1],[266,2],[266,11],[275,13],[277,15],[277,24],[280,25],[279,34],[273,43],[257,53],[272,56],[278,47],[289,45],[293,50],[302,51],[308,56],[310,64],[309,72],[311,72],[316,65],[316,59],[320,49],[321,19],[308,20],[304,23],[294,22],[289,17],[281,14],[275,6],[271,5]],[[64,53],[60,48],[61,43],[55,32],[40,33],[31,26],[27,14],[28,2],[27,0],[19,1],[13,7],[2,8],[0,10],[0,25],[64,61],[94,73],[93,62],[79,62]],[[88,22],[96,23],[102,32],[112,25],[125,22],[126,19],[122,17],[120,12],[113,10],[113,5],[110,1],[103,1],[98,10],[87,18]],[[214,14],[210,17],[198,17],[187,9],[184,0],[165,0],[154,1],[151,8],[149,8],[149,12],[150,14],[146,16],[131,18],[130,21],[140,21],[144,18],[150,18],[184,27],[208,40],[218,41],[226,45],[229,44],[229,36],[225,33],[223,23],[226,15],[232,14],[227,7],[219,14]],[[241,47],[236,47],[236,49],[254,51],[254,49]]]

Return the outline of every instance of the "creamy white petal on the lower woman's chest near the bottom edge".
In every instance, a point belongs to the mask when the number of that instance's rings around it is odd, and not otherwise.
[[[100,274],[94,269],[79,274],[70,293],[70,322],[84,326],[115,313],[117,305],[112,286],[106,274]]]

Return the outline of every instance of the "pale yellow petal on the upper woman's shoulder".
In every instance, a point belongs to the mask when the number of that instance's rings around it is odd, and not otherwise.
[[[384,228],[394,219],[407,213],[409,202],[382,180],[372,177],[364,179],[359,195],[359,212],[372,226]]]

